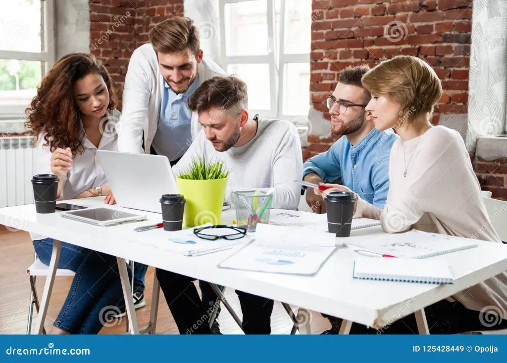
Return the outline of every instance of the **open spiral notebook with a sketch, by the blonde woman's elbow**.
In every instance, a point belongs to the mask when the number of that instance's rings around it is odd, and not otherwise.
[[[479,246],[471,239],[418,230],[391,234],[388,238],[357,240],[351,248],[401,258],[427,258]]]

